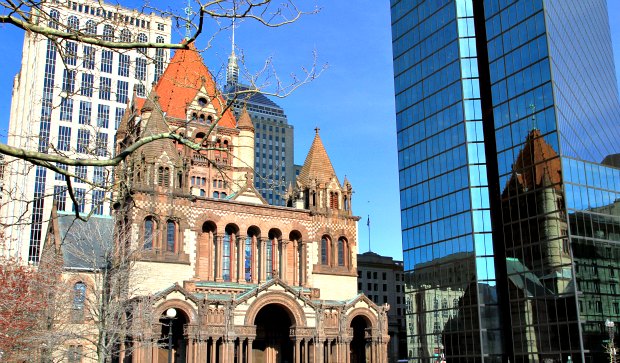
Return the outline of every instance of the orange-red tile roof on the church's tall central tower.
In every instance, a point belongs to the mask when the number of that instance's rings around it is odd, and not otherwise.
[[[226,101],[196,48],[190,44],[190,49],[177,50],[156,86],[162,111],[168,117],[186,119],[187,105],[203,85],[213,107],[221,114]],[[230,109],[221,116],[218,126],[235,128],[235,116]]]

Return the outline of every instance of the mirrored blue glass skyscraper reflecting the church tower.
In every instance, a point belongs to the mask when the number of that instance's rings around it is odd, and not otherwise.
[[[606,2],[390,4],[410,361],[608,359],[620,104]]]

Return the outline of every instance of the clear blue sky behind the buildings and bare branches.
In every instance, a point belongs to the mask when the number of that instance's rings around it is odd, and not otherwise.
[[[620,1],[608,2],[615,59],[619,64]],[[122,3],[132,6],[141,2]],[[242,49],[250,70],[257,71],[265,59],[271,57],[284,80],[291,72],[301,75],[301,67],[311,66],[315,50],[318,63],[328,64],[318,79],[291,96],[276,100],[285,109],[289,123],[295,126],[295,162],[303,163],[314,128],[319,127],[340,181],[346,175],[355,190],[353,211],[362,218],[359,251],[368,250],[366,219],[370,215],[372,250],[400,259],[389,2],[357,0],[352,5],[351,1],[315,0],[313,3],[321,8],[318,14],[284,28],[264,30],[249,21],[240,24],[236,33],[237,46]],[[207,23],[205,33],[214,29],[213,24]],[[4,140],[13,77],[20,67],[23,35],[9,25],[0,25],[0,39],[0,53],[4,54],[0,57],[0,132]],[[198,42],[198,47],[205,47],[204,38]],[[229,52],[230,34],[227,32],[203,53],[203,58],[213,73],[223,76],[222,67]]]

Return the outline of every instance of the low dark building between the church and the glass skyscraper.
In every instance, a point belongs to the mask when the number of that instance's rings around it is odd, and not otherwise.
[[[405,275],[403,261],[368,251],[357,255],[357,291],[375,304],[389,304],[387,363],[406,357]]]

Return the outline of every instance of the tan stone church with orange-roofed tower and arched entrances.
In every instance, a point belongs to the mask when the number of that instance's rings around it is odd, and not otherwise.
[[[386,362],[389,305],[357,293],[352,187],[318,129],[288,207],[268,205],[250,118],[237,121],[200,55],[181,50],[128,108],[118,150],[166,132],[208,151],[159,139],[117,168],[145,277],[135,308],[153,312],[133,321],[132,361]]]

